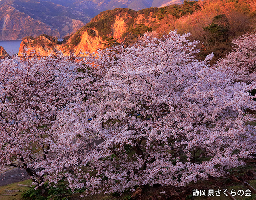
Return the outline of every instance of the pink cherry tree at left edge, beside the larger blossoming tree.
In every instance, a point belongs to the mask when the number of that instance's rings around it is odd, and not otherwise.
[[[13,57],[0,61],[0,171],[24,168],[34,184],[44,183],[46,160],[56,116],[76,93],[78,66],[71,57]]]

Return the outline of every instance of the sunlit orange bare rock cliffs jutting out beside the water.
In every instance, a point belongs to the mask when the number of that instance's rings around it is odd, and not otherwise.
[[[62,44],[49,40],[49,36],[44,35],[37,38],[25,38],[21,42],[18,56],[22,56],[22,53],[24,54],[27,49],[30,52],[46,56],[54,54],[56,51],[61,51],[64,55],[70,55],[71,53],[78,55],[94,52],[98,48],[105,48],[111,45],[111,42],[121,42],[123,34],[131,28],[132,21],[134,21],[134,26],[137,26],[145,20],[143,14],[136,15],[136,18],[134,18],[136,13],[134,10],[125,8],[103,12],[75,34],[66,38],[66,41]]]

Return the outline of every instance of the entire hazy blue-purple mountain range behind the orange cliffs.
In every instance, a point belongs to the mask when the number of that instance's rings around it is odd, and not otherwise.
[[[70,35],[102,11],[114,8],[141,10],[184,0],[1,0],[0,40],[47,34]]]

